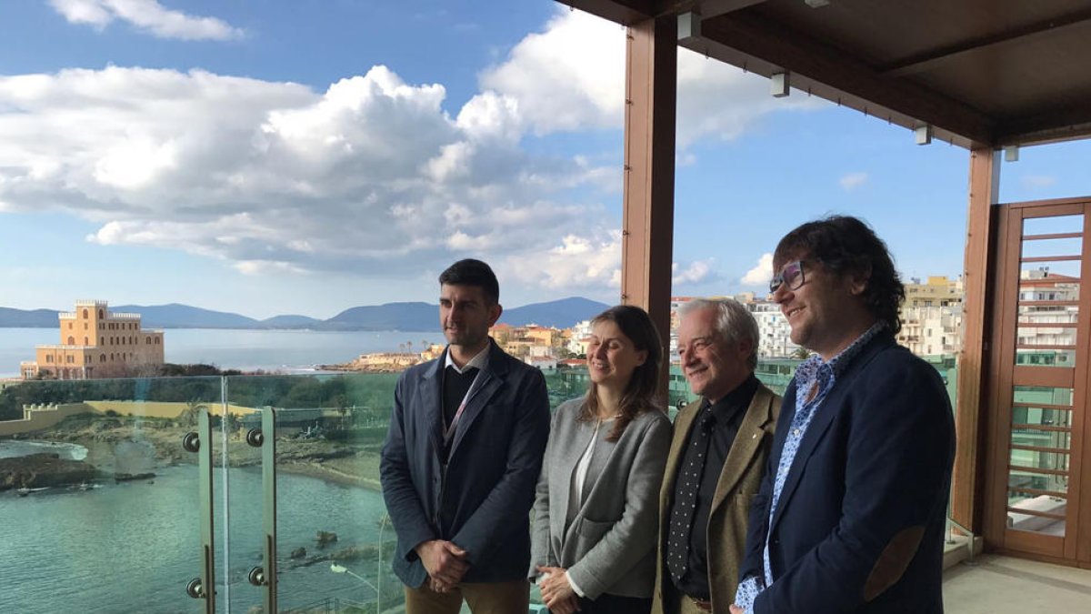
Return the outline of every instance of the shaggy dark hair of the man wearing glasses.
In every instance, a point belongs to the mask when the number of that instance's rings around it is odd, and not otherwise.
[[[906,287],[886,243],[867,223],[851,215],[807,222],[777,244],[772,261],[780,265],[792,260],[814,260],[837,275],[866,278],[863,298],[872,315],[886,322],[892,334],[901,330],[898,308],[906,299]]]

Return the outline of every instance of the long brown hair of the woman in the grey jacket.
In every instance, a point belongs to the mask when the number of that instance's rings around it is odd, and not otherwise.
[[[648,312],[632,305],[618,305],[595,316],[591,326],[599,322],[613,322],[621,329],[622,334],[633,342],[637,351],[648,353],[644,364],[636,367],[628,385],[625,387],[625,394],[621,399],[621,406],[618,408],[621,415],[614,422],[613,428],[607,436],[607,441],[616,441],[624,433],[628,423],[633,422],[642,412],[662,411],[660,408],[659,393],[659,367],[663,361],[662,341],[659,338],[659,330],[651,321]],[[584,400],[583,410],[579,412],[579,420],[595,420],[599,413],[599,397],[597,385],[592,381],[587,389],[587,397]]]

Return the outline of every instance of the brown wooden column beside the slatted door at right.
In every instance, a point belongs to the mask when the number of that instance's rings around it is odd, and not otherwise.
[[[962,351],[958,357],[958,400],[955,427],[958,445],[951,486],[951,518],[975,534],[982,532],[984,484],[981,449],[987,428],[984,405],[988,364],[990,278],[995,262],[992,244],[994,204],[999,200],[998,152],[984,146],[970,151],[970,203],[967,214],[966,265],[962,281]]]

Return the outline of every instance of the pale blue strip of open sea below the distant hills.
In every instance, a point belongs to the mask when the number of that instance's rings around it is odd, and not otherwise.
[[[59,335],[59,329],[0,328],[0,378],[19,377],[19,363],[34,359],[34,346],[58,343]],[[444,343],[443,333],[167,329],[164,339],[168,363],[287,373],[346,363],[369,352],[396,352],[403,343],[420,351],[424,342]]]

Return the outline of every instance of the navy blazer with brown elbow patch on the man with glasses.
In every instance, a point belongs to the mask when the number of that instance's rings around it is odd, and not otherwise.
[[[751,508],[740,579],[764,577],[767,532],[774,577],[755,614],[942,613],[955,425],[939,374],[889,333],[868,342],[816,410],[770,527],[795,394]]]

